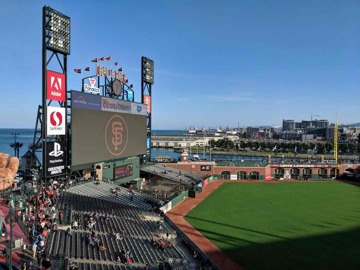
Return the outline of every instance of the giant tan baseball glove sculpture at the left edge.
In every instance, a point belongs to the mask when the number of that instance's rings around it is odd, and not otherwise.
[[[19,159],[17,157],[10,157],[9,163],[6,166],[10,155],[0,153],[0,190],[7,189],[14,182],[14,177],[19,168]],[[5,176],[5,182],[1,183]]]

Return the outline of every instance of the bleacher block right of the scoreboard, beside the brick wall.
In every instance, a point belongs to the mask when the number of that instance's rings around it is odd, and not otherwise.
[[[140,170],[150,174],[154,174],[155,171],[155,174],[161,174],[161,177],[178,183],[180,183],[181,178],[181,183],[186,183],[188,185],[192,185],[193,182],[197,183],[205,176],[204,174],[201,174],[199,172],[192,172],[180,168],[168,167],[163,164],[155,164],[152,166],[143,167]],[[163,174],[164,171],[166,171],[166,174]],[[181,175],[179,176],[180,171]]]

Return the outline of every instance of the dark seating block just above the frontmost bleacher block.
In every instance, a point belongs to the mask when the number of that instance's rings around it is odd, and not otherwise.
[[[77,216],[80,214],[83,230],[86,230],[86,221],[90,219],[88,213],[81,213],[73,211],[72,220],[77,220]],[[159,221],[163,228],[166,231],[174,231],[169,225],[165,222]],[[125,235],[132,236],[141,236],[141,237],[152,237],[152,231],[156,231],[157,225],[154,220],[141,220],[141,219],[127,219],[117,216],[109,216],[108,220],[105,220],[104,216],[99,216],[96,220],[95,228],[90,230],[95,230],[101,233],[111,233],[116,234],[118,232],[124,231]],[[170,228],[170,229],[169,229]]]

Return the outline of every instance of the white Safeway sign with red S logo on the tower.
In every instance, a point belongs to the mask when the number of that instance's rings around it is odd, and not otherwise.
[[[47,121],[46,134],[48,135],[65,135],[66,114],[65,108],[46,107]]]

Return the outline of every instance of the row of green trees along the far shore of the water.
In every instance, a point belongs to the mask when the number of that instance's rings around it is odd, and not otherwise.
[[[272,141],[240,141],[240,143],[236,143],[234,144],[233,141],[231,140],[211,140],[211,148],[219,148],[219,149],[226,149],[226,150],[240,150],[243,149],[245,150],[245,148],[250,148],[252,150],[257,150],[257,149],[261,149],[261,150],[273,150],[275,148],[276,145],[276,150],[289,150],[289,151],[294,151],[295,148],[297,150],[313,150],[315,149],[315,145],[316,145],[316,150],[317,152],[333,152],[334,150],[334,145],[333,143],[292,143],[292,142],[272,142]],[[350,152],[350,153],[354,153],[354,152],[360,152],[360,143],[354,144],[354,143],[340,143],[338,144],[338,150],[342,153],[346,153],[346,152]]]

